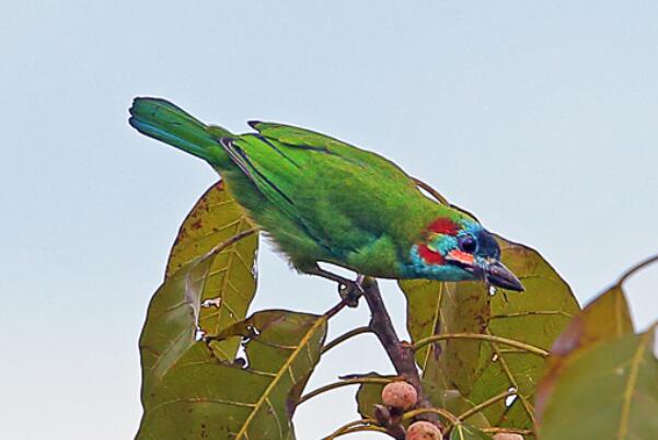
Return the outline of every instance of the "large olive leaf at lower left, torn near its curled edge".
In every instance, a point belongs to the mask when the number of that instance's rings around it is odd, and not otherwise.
[[[219,361],[196,340],[200,297],[221,252],[194,259],[155,292],[140,337],[142,405],[138,440],[293,439],[290,422],[315,367],[326,319],[265,311],[224,328],[247,364]]]

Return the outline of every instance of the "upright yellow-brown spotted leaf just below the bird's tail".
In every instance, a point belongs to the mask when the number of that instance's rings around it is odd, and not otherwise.
[[[187,215],[172,247],[166,278],[209,252],[215,245],[254,225],[223,182],[212,185]],[[243,320],[256,292],[255,258],[258,235],[253,234],[224,248],[213,260],[203,287],[199,326],[207,334]],[[238,340],[211,345],[219,359],[232,361]]]

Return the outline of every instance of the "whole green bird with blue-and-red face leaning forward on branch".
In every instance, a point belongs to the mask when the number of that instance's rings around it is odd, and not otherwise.
[[[208,162],[301,273],[360,289],[318,265],[326,262],[370,277],[523,290],[487,230],[377,153],[281,124],[250,121],[256,132],[233,135],[154,97],[135,99],[130,115],[140,132]]]

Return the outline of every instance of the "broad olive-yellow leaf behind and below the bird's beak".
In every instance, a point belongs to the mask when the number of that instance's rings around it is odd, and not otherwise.
[[[402,281],[413,341],[432,334],[488,332],[546,350],[551,347],[578,311],[578,303],[567,283],[538,252],[503,239],[499,242],[504,264],[521,279],[526,291],[508,293],[498,289],[489,297],[482,282],[454,286]],[[488,310],[485,301],[489,301]],[[441,360],[448,357],[452,359]],[[544,368],[543,358],[495,343],[473,341],[434,344],[418,350],[416,360],[426,380],[445,387],[457,386],[471,402],[484,402],[516,387],[519,397],[510,406],[500,401],[484,414],[493,426],[532,428],[532,401]]]

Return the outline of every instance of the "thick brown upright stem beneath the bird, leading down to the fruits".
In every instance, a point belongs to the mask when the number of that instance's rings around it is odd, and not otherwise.
[[[363,279],[362,287],[363,297],[370,309],[370,328],[372,329],[372,333],[377,335],[381,345],[386,350],[386,355],[389,355],[389,359],[391,359],[397,374],[414,385],[418,392],[418,404],[416,407],[431,408],[431,404],[420,384],[420,377],[418,375],[418,369],[414,361],[414,352],[411,349],[411,345],[402,343],[397,337],[377,281],[367,277]],[[435,413],[419,414],[418,418],[431,421],[440,428],[443,428],[442,424],[439,421],[439,417]],[[402,439],[404,439],[404,437]]]

